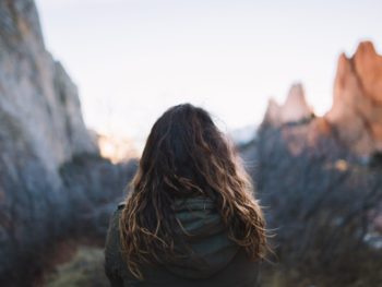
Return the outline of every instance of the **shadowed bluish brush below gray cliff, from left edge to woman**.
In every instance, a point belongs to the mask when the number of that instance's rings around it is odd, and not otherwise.
[[[32,286],[61,240],[103,244],[109,216],[136,168],[135,160],[114,165],[84,154],[55,179],[32,156],[7,160],[0,156],[0,286],[9,287]]]

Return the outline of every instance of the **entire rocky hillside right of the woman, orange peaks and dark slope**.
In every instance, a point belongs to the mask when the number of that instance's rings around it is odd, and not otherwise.
[[[274,228],[265,286],[379,286],[382,62],[371,43],[341,55],[333,106],[312,113],[295,85],[241,147]],[[350,252],[351,251],[351,252]]]

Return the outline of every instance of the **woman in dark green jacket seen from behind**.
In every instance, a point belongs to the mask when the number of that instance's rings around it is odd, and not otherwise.
[[[258,286],[265,224],[251,181],[210,115],[154,124],[106,242],[111,286]]]

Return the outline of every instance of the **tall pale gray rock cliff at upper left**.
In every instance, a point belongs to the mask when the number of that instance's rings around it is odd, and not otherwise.
[[[33,1],[0,3],[0,111],[49,170],[77,153],[97,153],[75,85],[46,51]]]

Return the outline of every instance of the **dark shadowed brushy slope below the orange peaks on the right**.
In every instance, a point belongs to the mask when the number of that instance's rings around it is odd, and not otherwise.
[[[275,234],[276,268],[315,286],[325,286],[322,278],[348,286],[366,276],[368,265],[368,279],[381,280],[382,252],[366,241],[370,211],[382,201],[381,170],[362,165],[330,137],[293,155],[283,129],[294,127],[260,130],[251,169]]]

